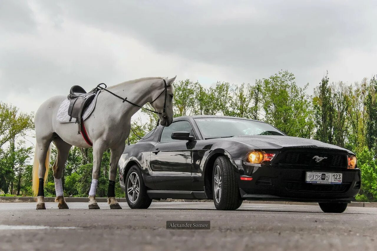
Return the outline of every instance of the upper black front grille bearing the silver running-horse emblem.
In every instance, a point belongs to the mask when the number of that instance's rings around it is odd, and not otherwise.
[[[314,156],[323,158],[316,162]],[[325,152],[325,151],[302,151],[290,150],[281,153],[278,164],[300,165],[308,167],[347,167],[347,155],[345,153]]]

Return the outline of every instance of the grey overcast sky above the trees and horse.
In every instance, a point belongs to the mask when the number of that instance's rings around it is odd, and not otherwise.
[[[377,73],[376,1],[0,0],[0,101],[31,112],[90,90],[177,75],[209,87],[279,70],[311,92],[325,74]]]

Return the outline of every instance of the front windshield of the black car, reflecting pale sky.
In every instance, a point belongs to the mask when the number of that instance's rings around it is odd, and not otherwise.
[[[236,118],[195,118],[203,138],[221,138],[244,135],[281,135],[270,124]]]

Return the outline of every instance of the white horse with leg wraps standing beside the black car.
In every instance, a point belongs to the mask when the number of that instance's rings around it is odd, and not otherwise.
[[[100,177],[100,164],[104,151],[111,150],[109,170],[108,203],[112,209],[120,209],[115,199],[115,177],[118,161],[123,153],[125,141],[130,133],[131,117],[140,107],[151,103],[158,113],[160,124],[169,126],[173,121],[173,86],[174,78],[140,78],[107,88],[110,92],[126,98],[127,102],[112,93],[102,90],[98,94],[93,113],[84,121],[87,136],[93,143],[92,184],[89,192],[89,209],[98,209],[95,199],[97,182]],[[67,209],[61,184],[61,174],[72,145],[81,148],[91,147],[77,134],[77,124],[60,123],[57,112],[67,96],[54,96],[45,101],[35,113],[35,135],[37,144],[33,165],[33,191],[37,195],[37,209],[46,209],[44,205],[43,185],[46,182],[49,167],[50,144],[57,148],[54,170],[55,192],[58,208]],[[135,105],[136,104],[136,105]],[[38,194],[37,194],[38,192]]]

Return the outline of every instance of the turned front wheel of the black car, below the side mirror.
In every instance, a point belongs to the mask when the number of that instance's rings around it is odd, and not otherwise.
[[[225,156],[218,157],[213,165],[212,193],[217,210],[236,210],[242,204],[236,172]]]

